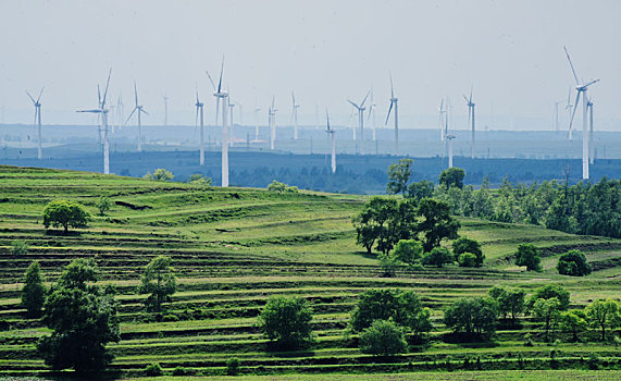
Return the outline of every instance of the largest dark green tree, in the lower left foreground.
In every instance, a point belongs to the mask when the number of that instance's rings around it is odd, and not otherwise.
[[[46,300],[44,321],[52,334],[37,351],[54,370],[98,373],[112,360],[105,344],[120,340],[119,304],[111,287],[92,284],[97,274],[92,259],[72,261]]]

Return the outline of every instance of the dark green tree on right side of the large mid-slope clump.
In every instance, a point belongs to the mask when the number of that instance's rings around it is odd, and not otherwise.
[[[426,253],[439,246],[443,239],[457,238],[460,224],[450,216],[450,207],[445,201],[423,198],[419,202],[418,214],[423,220],[415,225],[415,231],[422,235],[421,241]]]

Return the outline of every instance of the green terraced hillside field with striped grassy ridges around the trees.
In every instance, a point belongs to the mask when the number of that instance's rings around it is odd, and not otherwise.
[[[98,217],[96,202],[102,195],[113,207],[108,216]],[[70,235],[46,233],[41,210],[60,198],[87,207],[92,214],[88,229]],[[522,319],[522,330],[498,330],[493,343],[468,345],[443,341],[447,330],[440,320],[442,308],[455,298],[483,295],[495,284],[532,291],[561,283],[572,293],[573,307],[598,297],[619,297],[621,241],[462,219],[460,234],[483,243],[485,267],[399,270],[395,278],[382,278],[377,260],[355,244],[350,219],[364,200],[0,167],[0,377],[46,374],[34,344],[47,329],[39,320],[26,319],[18,304],[25,269],[39,260],[52,282],[64,265],[79,257],[95,258],[102,283],[115,284],[120,293],[122,341],[110,346],[119,377],[144,376],[152,362],[167,372],[181,366],[194,374],[219,376],[226,360],[237,357],[243,372],[250,374],[316,373],[321,379],[327,372],[351,372],[383,379],[386,372],[465,368],[495,379],[499,370],[549,368],[552,348],[563,367],[586,368],[592,355],[604,367],[620,367],[613,345],[591,341],[548,346],[541,340],[542,328],[530,318]],[[11,254],[15,239],[29,245],[26,255]],[[543,272],[525,273],[512,265],[512,253],[523,242],[544,248]],[[585,250],[596,271],[584,279],[556,274],[556,258],[570,248]],[[157,317],[145,311],[145,296],[136,288],[141,269],[162,254],[173,258],[179,291],[166,312]],[[433,309],[430,342],[388,361],[362,355],[357,336],[345,331],[358,296],[371,287],[419,293]],[[316,334],[311,349],[266,349],[256,317],[272,295],[298,295],[310,302]],[[526,336],[534,346],[524,346]],[[572,374],[581,378],[583,373],[576,372]],[[434,373],[423,374],[435,379]],[[584,374],[621,376],[619,371]]]

